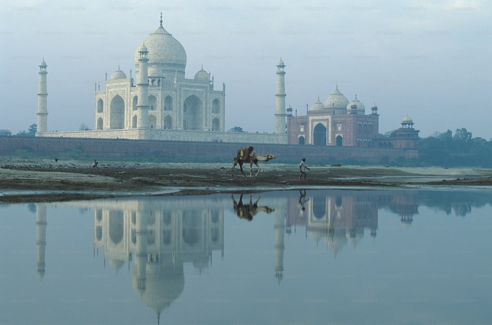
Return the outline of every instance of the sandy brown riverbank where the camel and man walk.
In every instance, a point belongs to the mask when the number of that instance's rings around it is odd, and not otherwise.
[[[106,164],[108,166],[106,167]],[[226,163],[136,163],[0,158],[0,202],[59,201],[149,194],[201,194],[346,186],[491,186],[492,170],[393,166],[309,166],[261,163],[255,177]],[[249,165],[245,165],[249,176]]]

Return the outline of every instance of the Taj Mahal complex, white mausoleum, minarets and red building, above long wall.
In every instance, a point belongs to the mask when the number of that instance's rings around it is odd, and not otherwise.
[[[306,116],[293,116],[285,106],[285,63],[277,63],[275,133],[225,130],[225,83],[216,90],[214,77],[202,68],[185,77],[183,45],[162,25],[145,38],[134,54],[134,77],[121,69],[104,88],[94,88],[94,128],[48,131],[47,64],[39,64],[38,137],[105,138],[164,141],[229,142],[373,148],[418,148],[418,130],[406,116],[394,138],[378,139],[379,114],[374,104],[366,114],[357,95],[352,101],[338,90],[322,103],[319,98]]]

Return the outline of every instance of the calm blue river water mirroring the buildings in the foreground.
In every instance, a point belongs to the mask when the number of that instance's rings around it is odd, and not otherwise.
[[[491,194],[0,205],[0,324],[491,324]]]

